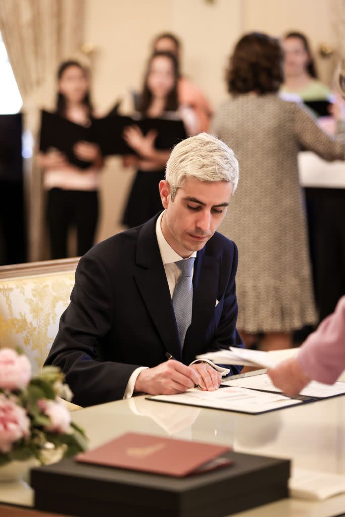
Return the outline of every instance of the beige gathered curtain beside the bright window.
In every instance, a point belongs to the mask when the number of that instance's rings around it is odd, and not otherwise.
[[[25,126],[37,142],[39,110],[52,107],[59,63],[80,58],[84,0],[0,0],[0,32],[23,99]],[[43,242],[41,173],[34,160],[26,176],[29,257]]]

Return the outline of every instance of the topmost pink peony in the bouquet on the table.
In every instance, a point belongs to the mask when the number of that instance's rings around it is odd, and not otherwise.
[[[31,377],[31,364],[24,355],[11,348],[0,350],[0,388],[16,390],[25,388]]]

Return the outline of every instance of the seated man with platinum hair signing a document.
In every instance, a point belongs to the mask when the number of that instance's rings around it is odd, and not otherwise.
[[[163,210],[80,260],[46,364],[82,406],[137,393],[219,388],[239,373],[196,356],[243,346],[236,330],[237,248],[216,232],[238,182],[233,151],[201,133],[173,149]],[[169,360],[171,359],[171,360]]]

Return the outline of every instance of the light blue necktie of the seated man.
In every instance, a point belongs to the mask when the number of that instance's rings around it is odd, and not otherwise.
[[[181,277],[179,277],[176,282],[172,299],[181,348],[183,348],[186,332],[192,322],[192,270],[194,260],[194,257],[190,257],[185,260],[175,262],[176,266],[178,266],[182,271]]]

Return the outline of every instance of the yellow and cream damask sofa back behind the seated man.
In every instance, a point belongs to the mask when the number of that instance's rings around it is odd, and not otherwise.
[[[35,375],[69,304],[79,258],[0,267],[0,348],[21,348]],[[66,403],[70,410],[79,408]]]

